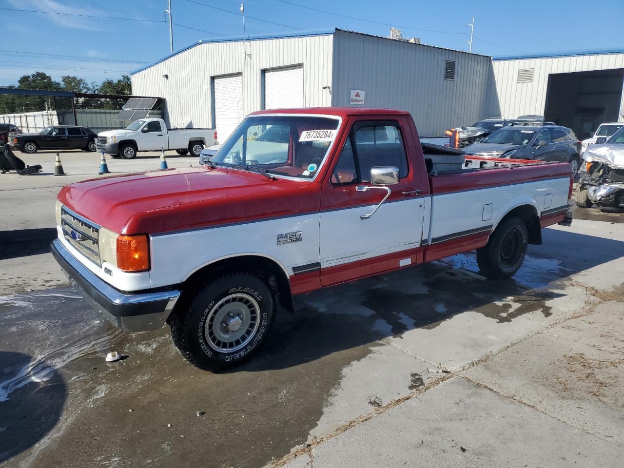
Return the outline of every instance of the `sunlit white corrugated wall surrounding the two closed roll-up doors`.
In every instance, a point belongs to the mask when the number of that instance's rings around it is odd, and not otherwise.
[[[243,112],[261,109],[263,69],[303,64],[305,106],[331,105],[325,85],[331,84],[333,35],[206,42],[190,47],[132,75],[132,93],[166,99],[170,127],[209,127],[214,123],[211,78],[243,74]],[[168,75],[165,79],[163,75]]]

